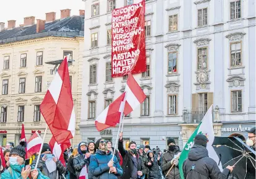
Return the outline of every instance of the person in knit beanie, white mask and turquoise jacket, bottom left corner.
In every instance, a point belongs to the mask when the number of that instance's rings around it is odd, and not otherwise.
[[[50,179],[39,170],[33,170],[30,165],[25,166],[26,146],[27,142],[20,141],[18,146],[11,149],[10,167],[1,174],[1,177],[5,179]]]

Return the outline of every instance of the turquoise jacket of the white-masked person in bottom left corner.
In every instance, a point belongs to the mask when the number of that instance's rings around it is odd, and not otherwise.
[[[1,177],[2,177],[2,179],[23,179],[21,177],[21,171],[17,172],[17,170],[12,168],[11,166],[9,167],[9,169],[5,170],[4,173],[1,174]],[[29,177],[27,179],[29,179]],[[43,175],[43,173],[41,173],[38,170],[38,177],[37,177],[37,179],[50,179],[50,178],[46,177],[45,175]]]

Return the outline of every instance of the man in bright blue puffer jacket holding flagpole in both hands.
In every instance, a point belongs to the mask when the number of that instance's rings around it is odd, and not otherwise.
[[[98,151],[90,157],[90,173],[95,178],[117,179],[117,177],[121,177],[123,175],[123,169],[117,157],[114,155],[113,161],[112,157],[112,152],[107,149],[107,142],[105,139],[100,139]]]

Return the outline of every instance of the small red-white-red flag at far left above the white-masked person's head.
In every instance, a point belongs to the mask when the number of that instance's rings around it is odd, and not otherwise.
[[[31,155],[40,151],[40,147],[42,145],[43,139],[39,136],[37,132],[35,132],[29,141],[27,141],[27,158],[31,157]]]

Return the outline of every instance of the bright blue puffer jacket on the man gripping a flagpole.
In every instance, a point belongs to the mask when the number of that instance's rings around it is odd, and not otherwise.
[[[123,175],[123,169],[121,168],[117,157],[113,157],[113,167],[117,169],[117,174],[108,173],[110,168],[108,167],[108,162],[112,160],[112,152],[102,152],[98,150],[95,155],[90,157],[89,170],[92,173],[94,179],[99,178],[108,178],[108,179],[117,179]]]

